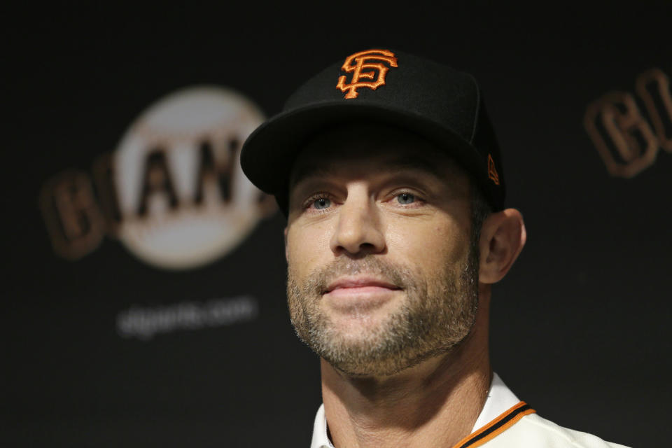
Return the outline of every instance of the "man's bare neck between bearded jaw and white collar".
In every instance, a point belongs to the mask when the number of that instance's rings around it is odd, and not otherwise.
[[[453,447],[471,433],[490,387],[489,291],[470,334],[447,353],[389,377],[349,377],[321,360],[335,447]]]

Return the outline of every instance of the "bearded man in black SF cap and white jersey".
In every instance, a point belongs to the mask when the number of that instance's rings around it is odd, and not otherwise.
[[[391,50],[311,78],[241,153],[288,221],[288,304],[321,357],[311,447],[617,447],[493,374],[491,284],[525,244],[475,80]]]

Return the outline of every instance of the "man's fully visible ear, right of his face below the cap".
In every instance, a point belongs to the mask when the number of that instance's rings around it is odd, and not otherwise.
[[[479,240],[479,282],[497,283],[504,278],[525,246],[527,232],[516,209],[493,213],[483,223]]]

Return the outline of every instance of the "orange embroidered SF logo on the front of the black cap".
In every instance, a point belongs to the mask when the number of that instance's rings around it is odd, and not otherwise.
[[[389,67],[383,64],[382,62],[368,62],[370,60],[384,61],[390,64],[391,67],[397,66],[397,58],[394,56],[394,53],[388,50],[366,50],[355,53],[354,55],[349,55],[346,57],[345,62],[341,69],[346,73],[352,73],[352,81],[349,84],[345,83],[345,75],[339,76],[338,87],[341,92],[347,91],[345,94],[346,98],[356,98],[358,93],[357,89],[359,87],[368,87],[372,90],[376,90],[381,85],[385,85],[385,75],[389,70]],[[364,69],[375,69],[378,71],[378,78],[372,80],[376,74],[375,71],[363,71]],[[362,79],[371,79],[372,81],[363,81]]]

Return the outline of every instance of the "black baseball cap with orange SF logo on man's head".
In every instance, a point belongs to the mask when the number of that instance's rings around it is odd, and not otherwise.
[[[287,214],[289,177],[302,146],[341,123],[379,123],[419,134],[470,174],[493,211],[504,208],[499,146],[476,80],[395,50],[356,52],[299,87],[281,113],[245,141],[243,172]]]

